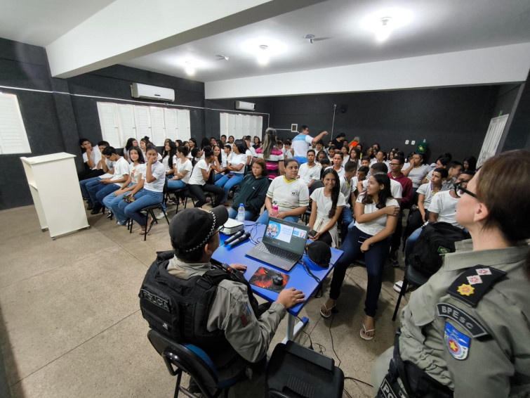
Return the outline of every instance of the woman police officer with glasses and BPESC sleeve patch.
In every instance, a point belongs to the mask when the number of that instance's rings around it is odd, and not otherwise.
[[[529,396],[529,170],[530,151],[513,150],[456,186],[472,239],[412,293],[372,370],[378,397]]]

